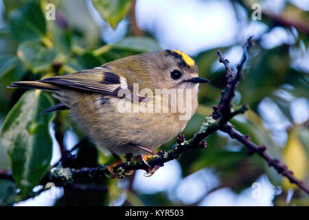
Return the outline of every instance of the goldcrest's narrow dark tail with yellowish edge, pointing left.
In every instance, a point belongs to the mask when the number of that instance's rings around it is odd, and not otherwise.
[[[14,82],[8,88],[25,88],[25,89],[41,89],[44,91],[59,91],[60,87],[50,83],[42,83],[39,81],[19,81]]]

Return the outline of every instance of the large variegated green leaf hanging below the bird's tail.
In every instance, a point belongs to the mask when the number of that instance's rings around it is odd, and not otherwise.
[[[38,113],[53,104],[49,95],[27,91],[8,113],[1,129],[0,140],[23,197],[41,181],[52,159],[49,123],[54,113]]]

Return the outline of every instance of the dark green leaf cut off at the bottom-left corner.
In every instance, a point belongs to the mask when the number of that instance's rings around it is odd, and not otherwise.
[[[16,184],[7,179],[0,179],[0,206],[12,206],[15,201]]]

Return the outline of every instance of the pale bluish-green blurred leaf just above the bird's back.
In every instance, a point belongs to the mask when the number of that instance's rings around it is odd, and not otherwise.
[[[155,50],[161,50],[161,47],[157,44],[157,41],[145,36],[128,36],[122,41],[113,44],[113,48],[121,50],[132,50],[135,52],[152,52]]]

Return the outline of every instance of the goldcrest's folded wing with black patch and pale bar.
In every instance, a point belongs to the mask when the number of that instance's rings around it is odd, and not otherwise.
[[[65,76],[43,78],[42,83],[116,96],[119,89],[128,89],[126,78],[114,74],[110,67],[95,67]]]

